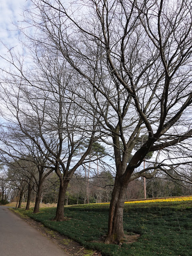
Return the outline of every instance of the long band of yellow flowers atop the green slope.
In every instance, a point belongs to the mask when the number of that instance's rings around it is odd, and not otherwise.
[[[150,202],[176,202],[176,201],[189,201],[189,200],[192,200],[192,196],[178,196],[178,197],[172,197],[172,198],[137,200],[137,201],[125,202],[125,204],[139,204],[139,203],[150,203]],[[110,202],[97,203],[97,204],[110,204]]]

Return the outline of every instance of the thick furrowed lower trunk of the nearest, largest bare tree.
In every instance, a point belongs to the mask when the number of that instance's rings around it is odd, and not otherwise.
[[[123,209],[127,185],[128,183],[125,184],[116,178],[110,202],[106,244],[119,244],[124,236]]]

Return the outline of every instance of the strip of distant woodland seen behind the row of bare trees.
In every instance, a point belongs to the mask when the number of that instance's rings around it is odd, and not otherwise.
[[[16,207],[21,208],[22,202],[35,202],[37,196],[36,181],[32,178],[29,186],[26,171],[9,169],[7,174],[0,175],[0,204],[17,202]],[[37,177],[36,177],[37,178]],[[110,202],[114,185],[114,176],[108,172],[86,176],[74,175],[66,191],[65,204],[86,204]],[[127,188],[125,200],[144,198],[144,184],[142,179],[133,180]],[[56,205],[59,192],[59,181],[56,174],[50,174],[42,185],[40,203]],[[192,194],[192,186],[187,182],[175,182],[169,176],[161,175],[146,182],[147,198],[160,198],[164,196],[181,196]]]

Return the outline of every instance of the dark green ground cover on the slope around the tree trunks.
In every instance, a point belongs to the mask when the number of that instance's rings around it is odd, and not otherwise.
[[[71,219],[64,222],[51,221],[56,208],[43,208],[38,214],[20,211],[102,256],[192,256],[192,201],[126,204],[124,230],[141,236],[121,247],[90,242],[106,235],[108,209],[107,204],[69,206],[65,216]]]

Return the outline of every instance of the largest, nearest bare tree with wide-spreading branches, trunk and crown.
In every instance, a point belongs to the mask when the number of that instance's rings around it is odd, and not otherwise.
[[[34,7],[29,15],[38,42],[76,70],[80,89],[74,93],[102,116],[102,139],[114,146],[116,178],[106,242],[119,242],[129,182],[191,161],[191,2],[89,0],[64,6],[60,0],[34,0]],[[144,134],[148,140],[135,151]],[[171,160],[159,158],[137,171],[148,152],[162,150],[163,155],[166,148]],[[180,153],[184,148],[186,154]]]

